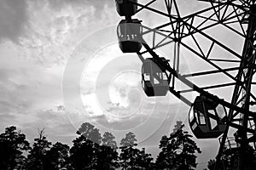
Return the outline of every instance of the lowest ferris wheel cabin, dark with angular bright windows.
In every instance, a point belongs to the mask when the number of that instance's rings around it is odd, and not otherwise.
[[[223,105],[197,96],[189,111],[189,126],[197,139],[218,138],[224,133],[226,115]]]

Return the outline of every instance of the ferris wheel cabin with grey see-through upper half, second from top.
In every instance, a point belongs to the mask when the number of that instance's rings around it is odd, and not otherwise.
[[[123,53],[137,53],[142,48],[140,42],[143,33],[141,21],[121,20],[117,27],[119,48]]]

